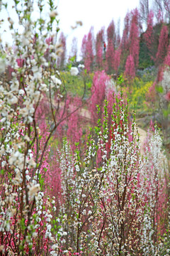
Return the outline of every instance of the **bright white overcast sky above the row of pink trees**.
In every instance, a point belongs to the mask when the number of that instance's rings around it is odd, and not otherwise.
[[[0,0],[1,1],[1,0]],[[9,13],[13,17],[13,0],[3,0],[8,3]],[[45,0],[47,2],[47,0]],[[85,34],[89,33],[91,26],[94,26],[94,34],[102,28],[108,28],[113,20],[117,27],[120,18],[120,34],[123,31],[123,20],[127,11],[131,11],[139,6],[140,0],[55,0],[55,6],[60,18],[60,29],[67,36],[67,54],[71,49],[72,38],[78,38],[78,49],[80,53],[81,41]],[[3,11],[1,18],[8,16]],[[14,18],[15,19],[15,18]],[[71,26],[75,26],[76,21],[82,21],[83,26],[79,26],[72,30]],[[8,23],[6,24],[6,30]],[[4,33],[3,40],[10,41],[8,33]]]

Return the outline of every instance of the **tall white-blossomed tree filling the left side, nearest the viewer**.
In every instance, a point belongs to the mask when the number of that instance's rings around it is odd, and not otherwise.
[[[0,253],[48,255],[52,243],[56,249],[51,225],[56,208],[43,191],[42,166],[50,137],[66,118],[65,104],[58,112],[67,95],[56,68],[62,53],[57,10],[52,0],[13,4],[18,18],[16,28],[8,16],[13,46],[2,42],[0,48]],[[7,4],[1,1],[0,7],[8,14]],[[43,97],[52,125],[42,146],[36,112]]]

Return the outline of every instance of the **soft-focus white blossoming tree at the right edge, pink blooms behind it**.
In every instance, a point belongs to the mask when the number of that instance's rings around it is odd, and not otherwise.
[[[143,255],[159,255],[162,241],[159,234],[165,233],[168,225],[169,175],[167,160],[162,150],[162,137],[158,129],[147,132],[143,166],[140,171],[140,195],[142,196],[142,234]],[[166,191],[166,193],[165,193]],[[164,220],[164,225],[161,225]]]

